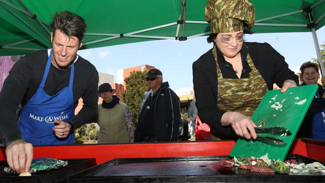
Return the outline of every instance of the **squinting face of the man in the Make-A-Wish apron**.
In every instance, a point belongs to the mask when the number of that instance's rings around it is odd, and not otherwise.
[[[51,32],[51,41],[53,46],[52,64],[56,68],[65,69],[74,61],[76,51],[81,47],[79,39],[75,36],[68,37],[60,30],[56,29],[53,37]]]

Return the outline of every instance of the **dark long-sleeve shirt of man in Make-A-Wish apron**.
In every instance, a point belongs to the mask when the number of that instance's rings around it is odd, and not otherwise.
[[[35,94],[41,82],[46,62],[47,50],[35,51],[21,57],[11,68],[0,92],[0,140],[5,145],[8,142],[22,138],[17,126],[16,109],[23,107]],[[44,91],[54,95],[69,84],[71,67],[61,70],[50,65],[44,84]],[[73,104],[83,99],[81,110],[71,121],[74,127],[86,123],[96,111],[98,101],[98,72],[87,60],[78,56],[74,62]]]

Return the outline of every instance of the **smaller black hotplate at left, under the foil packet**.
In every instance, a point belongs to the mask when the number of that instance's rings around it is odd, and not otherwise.
[[[59,182],[96,164],[95,158],[85,159],[62,159],[66,160],[67,166],[49,171],[32,173],[31,176],[18,176],[4,173],[6,161],[0,161],[0,183],[9,182]]]

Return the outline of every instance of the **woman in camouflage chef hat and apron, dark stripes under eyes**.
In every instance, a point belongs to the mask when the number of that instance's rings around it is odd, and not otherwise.
[[[281,92],[298,83],[269,44],[243,42],[244,29],[253,26],[254,18],[249,0],[208,0],[205,7],[213,48],[193,63],[193,85],[198,116],[221,139],[255,139],[250,116],[265,92],[273,83],[282,86]]]

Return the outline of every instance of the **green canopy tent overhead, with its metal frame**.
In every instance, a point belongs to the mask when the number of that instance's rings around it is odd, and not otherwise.
[[[255,33],[312,32],[324,74],[315,30],[325,24],[325,0],[251,0]],[[0,55],[51,47],[54,12],[81,15],[87,30],[81,49],[155,39],[186,40],[209,34],[206,0],[0,0]]]

